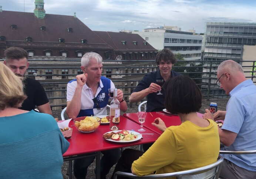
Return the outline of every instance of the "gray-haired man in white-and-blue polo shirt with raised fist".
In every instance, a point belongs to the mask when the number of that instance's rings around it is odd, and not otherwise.
[[[115,88],[114,83],[102,77],[102,57],[94,52],[86,53],[81,59],[83,74],[67,84],[67,114],[70,118],[91,115],[107,115],[107,103],[109,99],[108,89]],[[118,89],[117,98],[120,109],[127,110],[127,104],[123,99],[123,92]],[[101,178],[105,178],[110,168],[117,163],[121,154],[120,149],[102,151]],[[77,179],[84,179],[88,166],[94,157],[77,159],[74,162],[74,175]]]

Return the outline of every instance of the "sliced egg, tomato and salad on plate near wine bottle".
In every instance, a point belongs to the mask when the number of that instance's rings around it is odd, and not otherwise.
[[[106,133],[106,134],[103,135],[103,138],[112,139],[112,140],[115,140],[115,141],[120,141],[120,140],[131,141],[131,140],[136,139],[137,137],[138,137],[137,135],[134,135],[133,133],[130,133],[127,130],[122,130],[122,131],[119,131],[119,132]]]

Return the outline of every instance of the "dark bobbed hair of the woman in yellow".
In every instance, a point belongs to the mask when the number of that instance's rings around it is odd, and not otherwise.
[[[168,80],[165,88],[165,107],[174,114],[197,112],[202,107],[202,94],[195,81],[179,75]]]

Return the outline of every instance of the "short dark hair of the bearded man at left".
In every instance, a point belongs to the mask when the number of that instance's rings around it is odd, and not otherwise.
[[[20,47],[10,47],[4,51],[4,56],[6,56],[6,61],[9,59],[20,59],[28,58],[27,51]]]

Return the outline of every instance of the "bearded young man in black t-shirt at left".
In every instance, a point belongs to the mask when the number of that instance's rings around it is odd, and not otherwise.
[[[4,54],[6,55],[4,64],[17,76],[24,77],[24,92],[27,95],[27,99],[25,99],[20,109],[31,111],[37,107],[40,112],[52,115],[44,88],[37,80],[25,77],[29,66],[27,51],[23,48],[10,47],[4,51]]]

